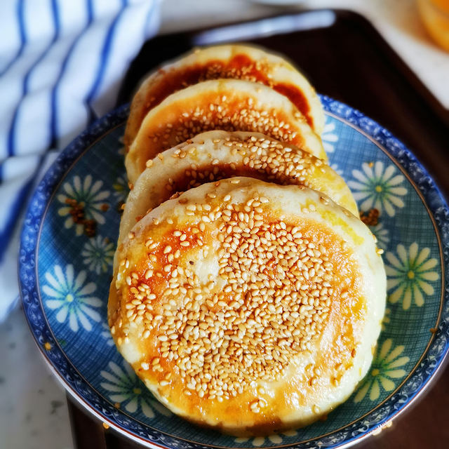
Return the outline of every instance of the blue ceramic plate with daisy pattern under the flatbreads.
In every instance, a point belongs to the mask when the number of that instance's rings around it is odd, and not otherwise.
[[[387,130],[330,98],[323,141],[373,233],[388,300],[373,366],[354,394],[304,429],[234,438],[173,416],[114,347],[106,310],[119,206],[126,199],[122,107],[96,122],[48,171],[29,206],[20,247],[23,307],[39,348],[67,391],[109,426],[149,447],[335,448],[379,431],[422,392],[449,346],[449,211],[434,181]],[[74,222],[95,220],[95,236]],[[76,220],[79,221],[79,220]]]

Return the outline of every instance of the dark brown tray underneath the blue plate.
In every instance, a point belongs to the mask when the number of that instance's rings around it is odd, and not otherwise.
[[[360,109],[402,140],[449,197],[449,111],[444,109],[365,18],[350,11],[306,11],[214,29],[158,36],[130,65],[117,100],[129,102],[142,76],[162,62],[210,43],[241,41],[283,53],[316,91]],[[447,448],[449,369],[415,406],[360,448]],[[69,400],[78,449],[131,449]]]

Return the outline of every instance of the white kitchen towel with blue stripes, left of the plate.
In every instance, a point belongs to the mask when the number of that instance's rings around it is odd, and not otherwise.
[[[0,1],[0,321],[17,301],[20,216],[58,150],[114,107],[159,0]]]

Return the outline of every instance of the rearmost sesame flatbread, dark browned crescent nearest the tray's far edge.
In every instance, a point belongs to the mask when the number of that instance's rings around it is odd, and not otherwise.
[[[260,48],[223,45],[200,48],[163,65],[143,81],[133,98],[125,144],[131,145],[150,109],[192,84],[208,79],[246,79],[286,95],[316,133],[324,128],[321,102],[309,81],[284,58]]]

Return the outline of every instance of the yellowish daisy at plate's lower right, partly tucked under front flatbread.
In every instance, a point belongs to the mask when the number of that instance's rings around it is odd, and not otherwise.
[[[402,345],[393,346],[393,340],[387,338],[382,344],[380,351],[376,348],[373,365],[371,366],[370,372],[365,377],[363,384],[361,384],[360,389],[356,396],[354,397],[354,402],[360,402],[368,393],[370,401],[376,401],[382,389],[385,391],[392,391],[396,386],[395,380],[404,377],[407,372],[400,368],[406,365],[410,361],[408,356],[403,356],[404,347]]]

